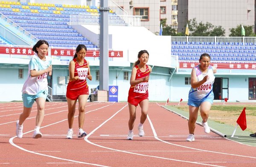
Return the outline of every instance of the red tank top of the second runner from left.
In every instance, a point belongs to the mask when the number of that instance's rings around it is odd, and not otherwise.
[[[84,64],[83,65],[79,65],[78,62],[76,61],[76,58],[73,59],[73,61],[75,62],[75,73],[74,76],[78,76],[79,72],[78,72],[78,68],[88,68],[88,64],[87,61],[84,59]],[[87,81],[86,79],[79,79],[76,81],[69,81],[68,85],[67,85],[67,89],[75,91],[81,88],[87,88]]]

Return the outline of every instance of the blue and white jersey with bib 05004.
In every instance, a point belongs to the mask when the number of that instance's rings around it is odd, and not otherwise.
[[[208,79],[204,82],[203,85],[199,86],[198,88],[192,88],[189,91],[189,98],[201,100],[203,98],[207,98],[210,93],[212,93],[212,87],[215,80],[215,76],[213,74],[212,66],[209,65],[207,74],[203,74],[199,68],[200,65],[197,65],[194,69],[196,72],[196,76],[198,81],[204,79],[204,76],[208,75]]]

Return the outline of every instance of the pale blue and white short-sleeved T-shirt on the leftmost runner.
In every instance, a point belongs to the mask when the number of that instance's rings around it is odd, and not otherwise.
[[[45,58],[45,61],[41,60],[35,53],[35,55],[33,55],[32,58],[30,59],[28,78],[26,79],[22,88],[23,93],[27,93],[29,95],[36,95],[41,90],[48,90],[48,73],[44,73],[40,76],[34,77],[30,75],[31,70],[41,71],[47,69],[50,65],[52,65],[52,58],[49,56],[46,56]]]

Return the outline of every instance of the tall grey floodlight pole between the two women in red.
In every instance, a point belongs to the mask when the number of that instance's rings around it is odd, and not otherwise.
[[[99,90],[108,91],[108,0],[100,1]]]

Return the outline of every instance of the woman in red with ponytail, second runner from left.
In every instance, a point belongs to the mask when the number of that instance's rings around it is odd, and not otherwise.
[[[89,62],[86,61],[85,54],[87,48],[85,45],[78,45],[76,47],[76,54],[73,60],[70,61],[69,65],[69,73],[70,73],[70,81],[67,85],[67,105],[68,105],[68,132],[67,139],[73,138],[73,121],[74,115],[76,111],[76,102],[79,102],[79,131],[77,137],[86,136],[86,132],[83,130],[84,126],[84,112],[85,112],[85,103],[87,102],[87,98],[89,95],[88,85],[86,78],[92,80],[92,76],[90,74],[90,66]]]

